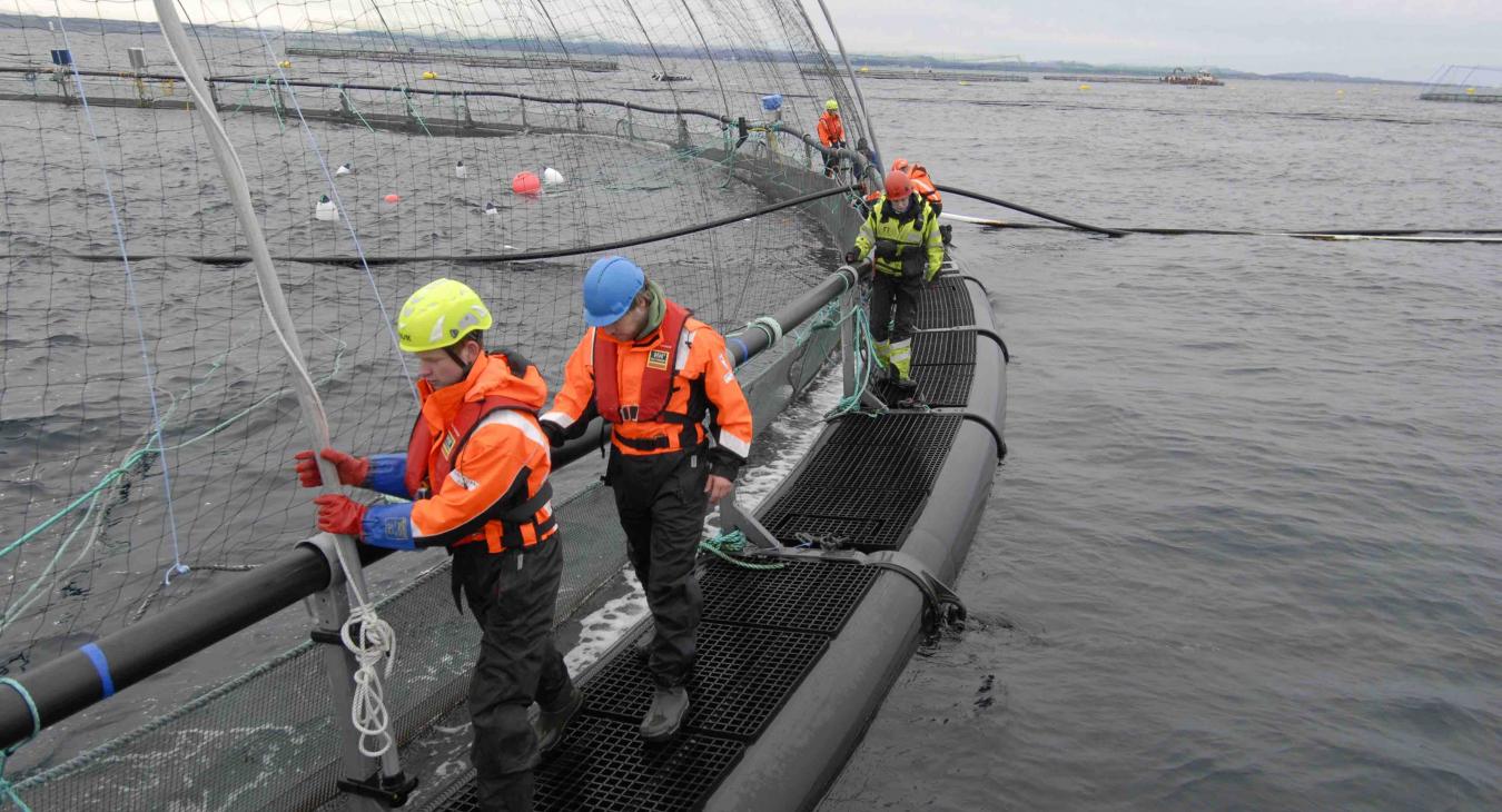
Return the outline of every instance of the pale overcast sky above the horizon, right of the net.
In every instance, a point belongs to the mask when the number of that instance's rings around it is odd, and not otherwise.
[[[1021,54],[1413,81],[1443,65],[1502,66],[1502,0],[825,3],[846,48],[867,53]],[[811,17],[822,17],[817,0],[805,5]]]

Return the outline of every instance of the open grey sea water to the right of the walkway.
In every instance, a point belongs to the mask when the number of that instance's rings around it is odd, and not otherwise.
[[[1092,224],[1502,227],[1502,108],[1416,87],[864,90]],[[955,228],[1012,351],[973,621],[820,809],[1502,806],[1502,246]]]

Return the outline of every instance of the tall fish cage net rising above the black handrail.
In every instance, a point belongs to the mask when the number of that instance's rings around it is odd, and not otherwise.
[[[808,134],[825,99],[855,105],[798,0],[176,6],[176,57],[149,2],[0,14],[0,675],[312,530],[291,366],[186,75],[345,450],[406,447],[392,318],[431,279],[472,285],[487,344],[556,389],[611,246],[728,221],[619,249],[722,332],[835,264],[820,224],[852,195],[748,216],[843,182]]]

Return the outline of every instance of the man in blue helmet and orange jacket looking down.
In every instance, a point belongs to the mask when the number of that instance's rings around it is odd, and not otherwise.
[[[641,735],[665,741],[688,713],[704,513],[730,492],[751,452],[751,407],[725,339],[631,260],[604,257],[589,269],[584,321],[542,428],[557,444],[580,434],[592,411],[610,423],[605,482],[653,621],[643,653],[656,690]]]

